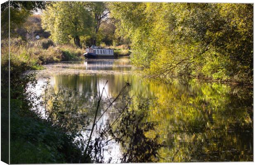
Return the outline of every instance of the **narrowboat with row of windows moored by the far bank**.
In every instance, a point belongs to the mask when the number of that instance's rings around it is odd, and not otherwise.
[[[88,59],[114,58],[114,51],[111,49],[92,46],[90,48],[86,48],[83,55]]]

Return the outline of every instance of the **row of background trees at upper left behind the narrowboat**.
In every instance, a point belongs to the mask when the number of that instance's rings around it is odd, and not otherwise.
[[[122,45],[115,36],[115,19],[109,16],[107,2],[41,2],[10,3],[11,38],[23,40],[51,38],[57,44],[78,47],[91,45]],[[58,11],[58,12],[56,12]],[[8,3],[1,5],[1,36],[8,38]]]

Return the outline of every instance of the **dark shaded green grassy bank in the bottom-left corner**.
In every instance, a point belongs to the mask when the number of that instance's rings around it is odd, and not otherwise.
[[[4,100],[2,100],[4,101]],[[11,100],[10,162],[27,163],[90,163],[73,143],[74,136],[59,131],[36,113],[25,113],[18,99]]]

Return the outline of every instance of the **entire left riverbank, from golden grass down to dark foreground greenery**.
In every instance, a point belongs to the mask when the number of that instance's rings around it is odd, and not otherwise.
[[[11,106],[10,163],[90,163],[89,156],[83,156],[74,143],[75,133],[61,131],[40,117],[36,97],[28,92],[28,86],[36,84],[35,75],[24,74],[43,69],[42,64],[82,59],[82,51],[70,45],[52,45],[47,39],[25,42],[16,38],[11,40],[10,61],[8,54],[8,42],[1,40],[1,102],[10,97]],[[4,104],[1,108],[3,112],[9,109]]]

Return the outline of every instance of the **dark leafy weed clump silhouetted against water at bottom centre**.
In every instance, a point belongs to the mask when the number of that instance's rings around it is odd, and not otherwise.
[[[135,101],[135,99],[133,99]],[[157,123],[147,121],[147,101],[142,100],[136,106],[131,104],[121,116],[110,134],[123,148],[122,163],[146,163],[159,161],[159,135],[155,132]],[[154,136],[150,133],[154,132]]]

